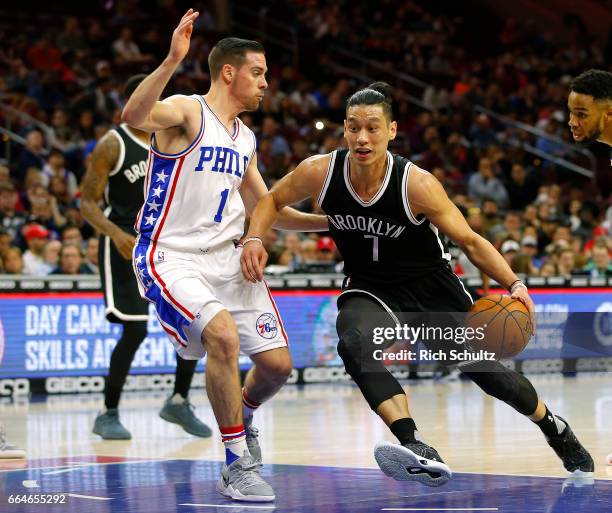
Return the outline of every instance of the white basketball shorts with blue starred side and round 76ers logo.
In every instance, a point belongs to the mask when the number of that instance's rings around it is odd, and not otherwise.
[[[236,322],[242,353],[250,356],[289,345],[270,289],[265,282],[243,277],[241,254],[242,247],[233,242],[194,254],[138,239],[133,264],[140,295],[155,305],[181,357],[205,356],[202,331],[221,310],[228,310]]]

